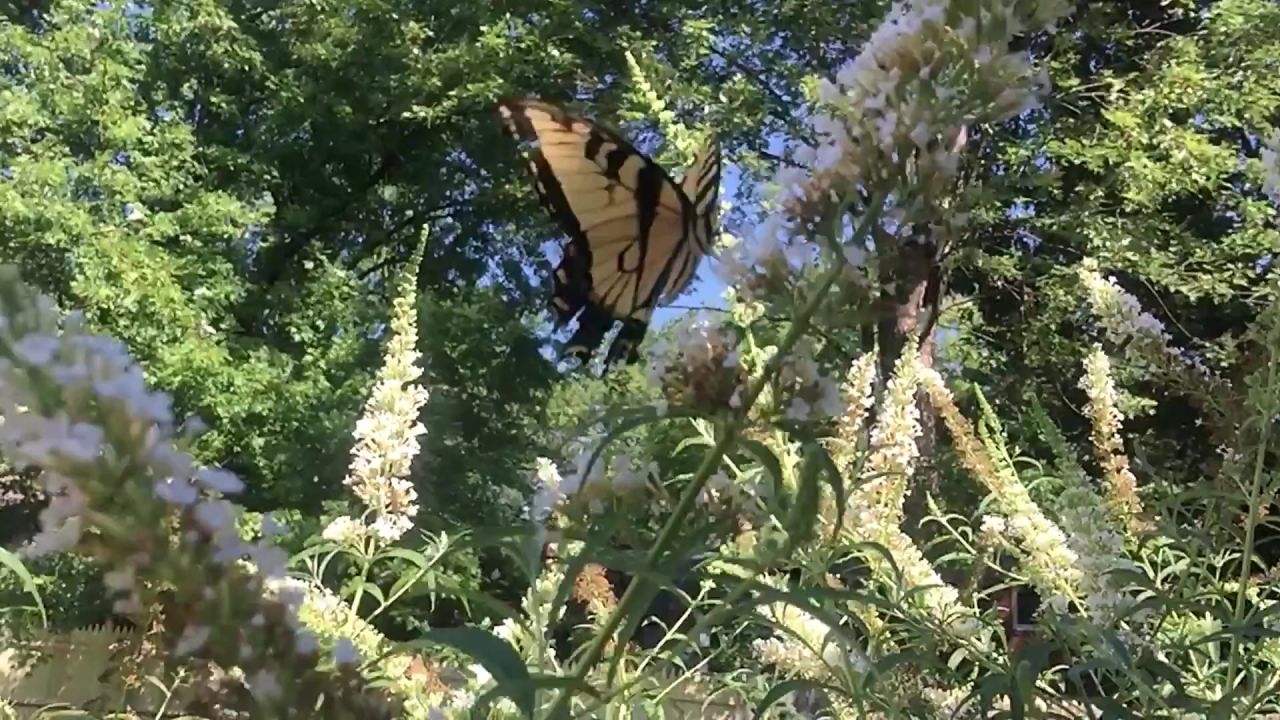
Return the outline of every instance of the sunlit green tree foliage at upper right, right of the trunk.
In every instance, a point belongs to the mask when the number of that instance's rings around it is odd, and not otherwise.
[[[1203,13],[1092,3],[1053,41],[1046,109],[979,136],[986,200],[973,237],[982,240],[956,254],[950,287],[977,301],[978,316],[952,315],[964,340],[951,347],[975,380],[1001,388],[1002,410],[1039,395],[1071,434],[1079,429],[1078,375],[1061,368],[1091,342],[1068,269],[1084,255],[1189,351],[1211,365],[1239,360],[1244,327],[1272,297],[1262,277],[1280,246],[1253,160],[1280,113],[1280,45],[1258,32],[1277,19],[1275,4],[1254,0]],[[1117,372],[1143,406],[1129,410],[1149,461],[1172,470],[1187,442],[1208,450],[1203,430],[1181,421],[1183,398]]]

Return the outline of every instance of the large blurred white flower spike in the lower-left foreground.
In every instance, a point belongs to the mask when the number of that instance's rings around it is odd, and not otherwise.
[[[335,712],[392,716],[390,700],[366,691],[353,667],[319,669],[297,598],[268,587],[284,573],[283,551],[239,538],[238,507],[224,498],[239,480],[198,469],[180,448],[189,437],[174,427],[168,396],[147,389],[122,343],[92,334],[79,313],[61,318],[9,266],[0,266],[0,419],[5,459],[41,469],[52,496],[28,552],[95,556],[118,610],[163,607],[166,662],[193,661],[201,678],[193,708],[244,705],[242,683],[224,670],[238,667],[256,715],[292,717],[324,698]]]

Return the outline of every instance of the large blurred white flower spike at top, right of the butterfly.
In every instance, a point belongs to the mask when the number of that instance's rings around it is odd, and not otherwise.
[[[941,243],[963,224],[948,208],[966,127],[998,122],[1037,106],[1047,76],[1010,40],[1052,27],[1071,12],[1065,0],[923,0],[896,3],[835,79],[822,79],[808,117],[817,145],[794,151],[800,168],[778,170],[771,214],[756,232],[722,255],[726,281],[748,296],[788,290],[814,256],[797,241],[835,197],[890,193],[878,252],[897,241]],[[910,188],[906,193],[902,188]],[[931,237],[918,237],[916,228]],[[896,238],[897,233],[910,233]],[[863,247],[851,247],[860,266]]]

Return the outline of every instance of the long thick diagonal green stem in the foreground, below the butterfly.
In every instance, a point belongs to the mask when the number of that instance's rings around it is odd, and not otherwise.
[[[858,228],[854,233],[855,242],[856,240],[867,237],[867,232],[870,229],[872,224],[879,218],[883,206],[884,206],[884,195],[878,193],[868,205],[867,213],[861,217],[861,219],[858,223]],[[838,222],[841,214],[836,213],[835,217],[836,222]],[[777,352],[774,352],[768,365],[765,365],[764,372],[760,373],[760,377],[758,377],[755,382],[751,383],[751,386],[748,388],[746,396],[742,398],[742,404],[739,407],[739,411],[735,415],[732,415],[727,423],[724,423],[724,425],[721,429],[719,437],[716,439],[716,445],[713,445],[712,448],[707,452],[707,455],[703,456],[703,461],[698,466],[698,470],[694,473],[694,478],[690,480],[689,487],[686,487],[685,492],[680,496],[680,501],[676,503],[675,510],[672,510],[671,516],[667,519],[667,524],[663,525],[662,530],[658,533],[658,538],[654,541],[653,547],[645,555],[646,568],[654,568],[658,564],[658,561],[660,561],[662,557],[671,548],[672,543],[676,541],[676,536],[686,524],[687,516],[692,511],[694,503],[698,501],[698,496],[701,492],[703,486],[707,484],[707,480],[712,477],[716,469],[719,468],[721,459],[730,450],[732,450],[733,445],[737,442],[737,432],[746,423],[746,418],[748,414],[751,411],[751,406],[754,406],[755,401],[759,400],[760,393],[764,392],[765,387],[768,387],[768,383],[771,382],[773,375],[781,370],[782,361],[785,360],[786,355],[791,351],[792,347],[795,347],[797,342],[800,342],[800,338],[809,329],[809,320],[813,319],[814,314],[817,314],[818,310],[822,307],[822,304],[827,299],[827,292],[831,290],[831,286],[836,283],[836,279],[838,279],[841,273],[844,272],[845,272],[844,259],[837,255],[832,260],[831,268],[826,272],[826,274],[823,274],[822,279],[818,282],[818,286],[814,288],[813,295],[809,297],[808,302],[805,302],[805,305],[800,309],[800,311],[796,313],[795,318],[791,322],[791,327],[787,328],[786,334],[778,343]],[[742,592],[745,592],[745,588],[741,589]],[[577,680],[579,683],[584,683],[586,680],[588,673],[590,673],[591,669],[595,666],[595,664],[599,662],[600,659],[604,656],[604,650],[608,647],[609,641],[613,638],[613,634],[622,625],[622,621],[632,612],[634,606],[641,598],[644,592],[645,592],[644,583],[641,582],[641,578],[634,578],[631,580],[631,584],[627,585],[626,592],[622,593],[622,598],[618,600],[617,607],[613,609],[613,612],[609,615],[609,619],[600,628],[599,633],[595,635],[595,639],[588,647],[586,653],[575,666],[572,673],[575,680]],[[622,638],[622,642],[625,643],[626,638]],[[564,691],[563,693],[561,693],[559,697],[556,698],[556,703],[552,706],[549,716],[553,719],[567,716],[568,706],[570,702],[572,702],[572,697],[573,697],[572,691]]]

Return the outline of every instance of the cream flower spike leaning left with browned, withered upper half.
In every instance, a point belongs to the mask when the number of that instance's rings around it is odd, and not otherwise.
[[[1052,606],[1065,610],[1070,601],[1079,597],[1082,571],[1079,557],[1062,529],[1036,505],[1012,468],[1004,462],[997,465],[960,413],[942,375],[923,365],[918,373],[929,401],[951,433],[961,465],[987,487],[1009,530],[1019,538],[1016,547],[1024,555],[1027,575]]]

